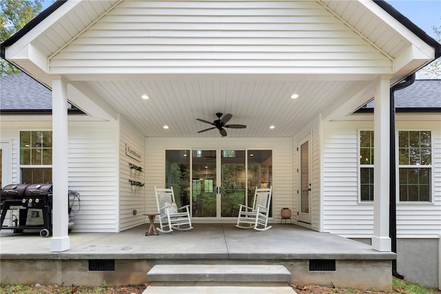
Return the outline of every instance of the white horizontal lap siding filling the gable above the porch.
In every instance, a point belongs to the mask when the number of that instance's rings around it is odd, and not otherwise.
[[[393,62],[316,1],[121,1],[50,58],[50,72],[79,68],[384,73]]]

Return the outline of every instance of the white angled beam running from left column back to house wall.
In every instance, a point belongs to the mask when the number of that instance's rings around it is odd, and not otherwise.
[[[118,113],[112,107],[79,82],[68,84],[68,100],[91,117],[106,121],[118,118]]]

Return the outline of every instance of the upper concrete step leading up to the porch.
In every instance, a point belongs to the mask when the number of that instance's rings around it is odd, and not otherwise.
[[[159,264],[147,273],[147,281],[154,286],[287,286],[291,273],[274,264]]]

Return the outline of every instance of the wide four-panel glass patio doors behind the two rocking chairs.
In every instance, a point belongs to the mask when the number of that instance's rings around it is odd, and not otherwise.
[[[237,217],[254,189],[271,186],[272,150],[165,150],[165,182],[192,217]]]

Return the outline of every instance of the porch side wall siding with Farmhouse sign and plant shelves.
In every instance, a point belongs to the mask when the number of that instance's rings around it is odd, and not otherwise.
[[[137,161],[125,154],[125,146],[129,145],[141,155],[141,161]],[[143,172],[134,172],[129,164],[141,166]],[[145,190],[146,187],[136,187],[132,190],[129,179],[145,184],[147,167],[145,166],[145,137],[121,117],[119,130],[119,230],[139,226],[145,222]],[[136,215],[133,211],[136,210]]]

